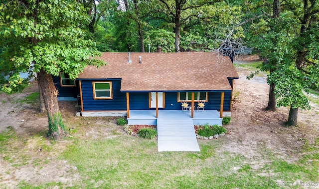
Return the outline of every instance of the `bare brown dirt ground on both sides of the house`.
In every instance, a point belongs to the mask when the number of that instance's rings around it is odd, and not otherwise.
[[[258,60],[257,56],[243,57],[243,62]],[[239,61],[239,63],[241,62]],[[276,112],[264,111],[268,101],[269,86],[266,83],[266,75],[259,75],[251,80],[246,79],[250,74],[247,69],[237,67],[239,79],[234,84],[234,101],[232,104],[231,123],[226,127],[228,135],[218,140],[226,140],[223,151],[241,154],[247,158],[260,157],[260,144],[276,152],[276,156],[282,156],[286,161],[295,161],[302,155],[301,147],[308,141],[314,143],[319,135],[319,106],[311,104],[312,110],[300,110],[298,127],[284,127],[288,117],[288,108],[279,108]],[[22,93],[6,95],[0,94],[0,132],[12,126],[18,137],[24,138],[29,145],[24,151],[31,153],[31,159],[26,160],[25,165],[14,166],[14,162],[5,161],[4,155],[0,154],[0,188],[15,188],[16,185],[25,181],[26,183],[39,184],[42,182],[62,182],[71,184],[79,179],[77,175],[70,175],[69,170],[75,170],[74,166],[68,165],[66,161],[58,160],[52,153],[41,153],[36,146],[36,140],[42,140],[40,136],[47,132],[47,118],[44,114],[38,114],[38,107],[25,103],[17,103],[30,93],[37,91],[37,83],[32,82],[31,86]],[[68,118],[67,125],[72,122],[83,122],[84,119],[74,117],[75,102],[59,102],[64,118]],[[105,120],[100,118],[85,120],[86,127],[83,128],[84,135],[77,136],[83,139],[112,137],[111,133],[125,132],[116,125],[116,120],[110,118],[107,126]],[[101,127],[103,126],[103,127]],[[71,130],[72,128],[70,128]],[[40,139],[39,139],[40,138]],[[43,137],[44,138],[44,137]],[[50,143],[45,140],[45,143]],[[59,142],[61,150],[68,144],[68,141]],[[65,144],[65,145],[64,145]],[[46,158],[49,163],[44,164],[43,169],[34,167],[36,159]],[[260,157],[262,158],[262,157]],[[265,162],[266,163],[266,162]],[[252,163],[253,164],[253,163]],[[260,161],[256,162],[258,168]],[[61,177],[63,175],[63,177]]]

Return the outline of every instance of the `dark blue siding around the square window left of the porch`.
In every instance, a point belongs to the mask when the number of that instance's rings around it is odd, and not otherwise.
[[[110,80],[108,80],[110,81]],[[112,81],[113,99],[93,99],[93,81],[81,80],[83,110],[127,110],[126,93],[120,91],[121,81]]]

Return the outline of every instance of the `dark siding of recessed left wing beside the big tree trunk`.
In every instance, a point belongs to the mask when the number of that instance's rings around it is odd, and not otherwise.
[[[79,81],[76,81],[75,87],[61,87],[60,77],[52,76],[53,82],[57,90],[59,91],[58,97],[73,97],[76,98],[80,94]]]

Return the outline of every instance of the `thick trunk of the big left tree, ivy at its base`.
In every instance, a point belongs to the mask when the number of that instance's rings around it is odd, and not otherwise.
[[[41,69],[37,76],[48,115],[48,137],[59,140],[65,136],[65,126],[58,105],[58,91],[50,74]]]

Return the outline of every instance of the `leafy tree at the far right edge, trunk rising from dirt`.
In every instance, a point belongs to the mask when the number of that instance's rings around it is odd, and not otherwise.
[[[296,0],[287,1],[284,7],[288,21],[281,24],[295,30],[293,36],[286,36],[290,39],[285,45],[289,53],[283,52],[285,59],[268,81],[276,83],[278,106],[290,106],[286,125],[296,126],[299,108],[310,108],[305,92],[319,87],[319,6],[316,0]]]

